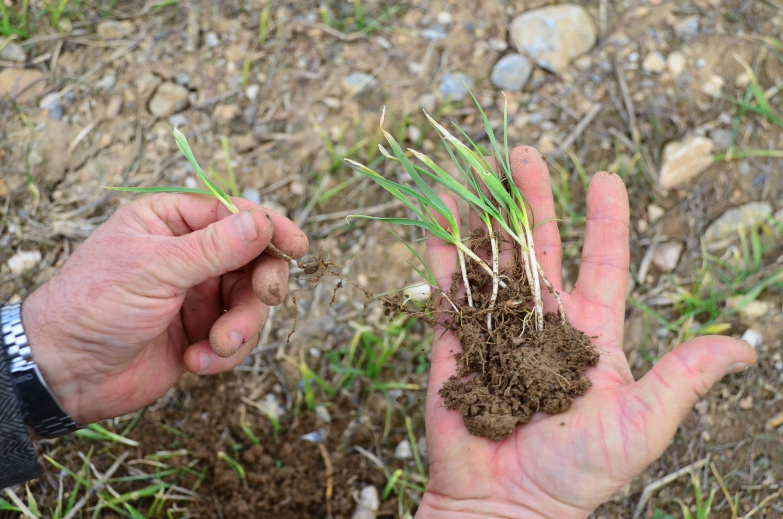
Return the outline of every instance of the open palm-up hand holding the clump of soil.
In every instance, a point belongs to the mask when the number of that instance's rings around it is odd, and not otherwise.
[[[555,217],[549,172],[538,151],[511,153],[514,183],[537,221]],[[444,196],[450,207],[453,198]],[[455,209],[452,209],[453,211]],[[418,517],[586,517],[644,470],[669,445],[691,406],[718,379],[756,361],[742,341],[707,336],[682,344],[638,382],[622,352],[629,269],[629,206],[619,176],[597,173],[587,191],[587,223],[579,278],[563,292],[557,223],[533,233],[539,262],[561,293],[572,325],[601,350],[586,375],[593,386],[568,411],[537,414],[503,441],[471,436],[438,390],[456,374],[459,340],[435,329],[426,424],[430,481]],[[455,213],[456,214],[456,213]],[[473,227],[479,220],[471,216]],[[456,252],[428,238],[429,266],[449,291]],[[555,311],[546,291],[545,309]]]

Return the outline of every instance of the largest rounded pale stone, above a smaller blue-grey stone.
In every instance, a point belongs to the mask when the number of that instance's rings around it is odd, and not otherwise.
[[[514,18],[511,41],[540,67],[561,73],[595,45],[597,30],[580,5],[551,5]]]

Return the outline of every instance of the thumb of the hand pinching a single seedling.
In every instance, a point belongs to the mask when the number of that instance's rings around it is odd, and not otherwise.
[[[266,249],[273,230],[269,214],[246,209],[173,238],[166,259],[171,284],[187,290],[244,267]]]

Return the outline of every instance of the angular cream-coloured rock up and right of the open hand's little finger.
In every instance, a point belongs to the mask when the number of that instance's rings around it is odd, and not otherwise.
[[[713,163],[712,140],[689,136],[666,144],[659,182],[663,189],[681,187]]]

